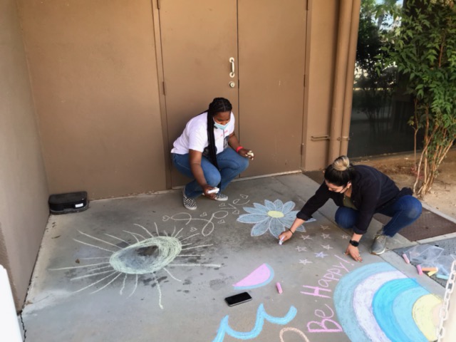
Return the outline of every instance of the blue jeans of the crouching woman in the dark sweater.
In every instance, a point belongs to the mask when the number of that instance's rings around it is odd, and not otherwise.
[[[410,195],[405,195],[375,213],[378,212],[391,217],[390,222],[383,227],[383,234],[393,237],[400,229],[415,222],[420,217],[421,210],[421,202],[418,199]],[[358,214],[358,210],[339,207],[336,211],[335,219],[337,224],[342,228],[351,229],[356,224]]]

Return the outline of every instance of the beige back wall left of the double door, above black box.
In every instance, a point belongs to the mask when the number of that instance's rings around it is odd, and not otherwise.
[[[150,0],[19,0],[51,193],[164,190]]]

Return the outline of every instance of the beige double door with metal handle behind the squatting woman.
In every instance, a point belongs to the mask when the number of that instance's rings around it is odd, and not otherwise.
[[[306,1],[160,0],[169,145],[228,98],[255,160],[243,177],[301,169]],[[183,179],[172,170],[172,186]]]

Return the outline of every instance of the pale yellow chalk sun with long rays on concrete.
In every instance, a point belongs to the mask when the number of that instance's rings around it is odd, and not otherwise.
[[[172,234],[167,234],[163,232],[160,235],[158,232],[157,224],[155,224],[156,234],[152,234],[145,227],[142,227],[140,224],[135,224],[135,226],[140,227],[144,232],[141,234],[138,232],[130,232],[124,230],[123,232],[127,233],[134,239],[134,241],[128,242],[128,238],[121,239],[120,237],[115,237],[111,234],[105,234],[109,239],[100,239],[98,237],[93,237],[90,234],[78,231],[84,237],[89,238],[98,242],[98,244],[90,244],[78,239],[74,241],[84,244],[95,249],[100,249],[104,253],[110,254],[106,257],[92,257],[92,258],[79,258],[80,260],[87,259],[100,259],[100,262],[95,264],[86,264],[81,266],[69,266],[61,267],[58,269],[51,269],[52,271],[61,271],[61,270],[76,270],[82,269],[85,274],[82,276],[75,276],[71,278],[72,281],[81,280],[81,279],[93,279],[93,281],[84,286],[82,289],[79,289],[76,292],[84,291],[89,288],[96,288],[95,291],[90,292],[90,294],[95,294],[95,292],[105,289],[107,286],[112,284],[119,277],[123,277],[122,286],[120,288],[120,295],[123,295],[125,288],[128,286],[129,279],[133,279],[133,289],[130,291],[129,296],[132,296],[136,289],[138,288],[138,279],[142,275],[152,275],[155,282],[155,286],[158,291],[158,304],[160,309],[163,309],[162,306],[162,291],[160,289],[160,283],[157,280],[157,272],[164,271],[175,281],[182,281],[173,276],[168,269],[171,266],[199,266],[199,267],[214,267],[219,268],[219,264],[196,264],[196,263],[180,263],[175,262],[177,258],[197,258],[204,257],[204,254],[183,254],[191,249],[199,249],[203,247],[212,246],[212,244],[198,244],[193,246],[192,242],[187,242],[192,237],[196,237],[200,233],[190,235],[189,237],[181,236],[182,229],[176,232],[176,228]],[[144,236],[143,234],[147,234]],[[109,240],[109,241],[108,241]],[[117,244],[114,244],[110,241],[115,240]],[[178,259],[177,259],[178,260]],[[185,260],[185,259],[184,259]],[[130,281],[131,282],[131,281]]]

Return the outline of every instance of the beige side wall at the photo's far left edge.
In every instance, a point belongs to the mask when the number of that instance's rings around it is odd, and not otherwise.
[[[0,70],[0,264],[19,310],[49,211],[15,0],[0,1]]]

